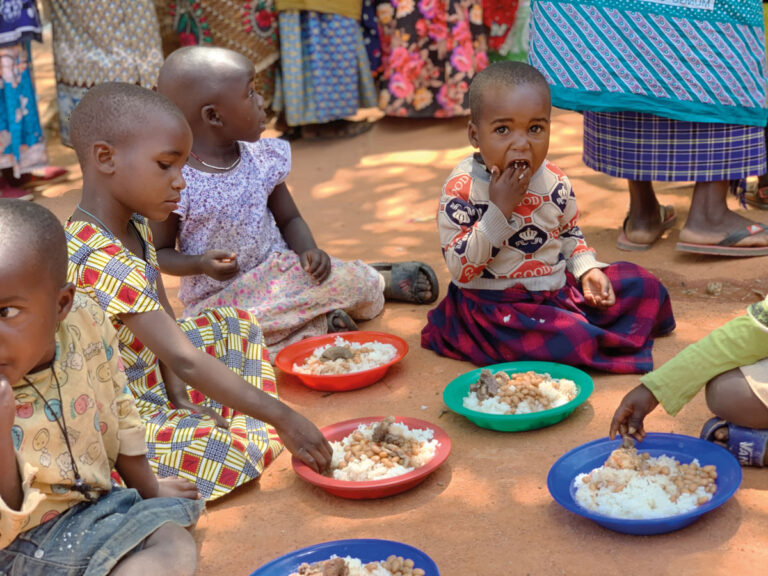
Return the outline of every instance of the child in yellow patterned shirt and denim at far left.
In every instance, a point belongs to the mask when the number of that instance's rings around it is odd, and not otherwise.
[[[117,335],[66,276],[56,217],[0,199],[0,573],[191,575],[204,502],[152,473]]]

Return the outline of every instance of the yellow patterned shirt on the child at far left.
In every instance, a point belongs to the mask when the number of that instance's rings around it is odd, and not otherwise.
[[[57,420],[66,421],[72,456],[94,495],[111,490],[110,473],[118,454],[147,451],[117,335],[101,308],[86,296],[75,295],[71,312],[59,325],[52,369],[61,401],[51,369],[27,374],[31,385],[25,380],[13,384],[12,435],[24,501],[17,511],[0,499],[0,548],[85,500],[70,489],[75,482],[72,459]]]

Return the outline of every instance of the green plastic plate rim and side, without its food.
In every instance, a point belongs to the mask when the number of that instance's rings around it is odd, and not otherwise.
[[[469,394],[469,385],[477,382],[480,377],[480,370],[477,368],[458,378],[452,380],[443,390],[443,401],[456,412],[474,422],[481,428],[498,430],[499,432],[522,432],[524,430],[535,430],[557,424],[566,419],[571,413],[589,398],[595,385],[592,377],[578,368],[557,364],[555,362],[505,362],[504,364],[493,364],[486,366],[494,374],[497,372],[506,372],[507,374],[516,374],[518,372],[538,372],[539,374],[549,374],[552,378],[567,378],[576,383],[576,398],[550,410],[533,412],[531,414],[486,414],[485,412],[476,412],[465,408],[462,400]]]

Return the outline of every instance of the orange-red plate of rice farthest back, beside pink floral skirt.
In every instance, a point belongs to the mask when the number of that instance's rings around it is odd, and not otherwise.
[[[314,390],[343,392],[381,380],[408,353],[402,338],[360,330],[294,342],[275,356],[275,366]]]

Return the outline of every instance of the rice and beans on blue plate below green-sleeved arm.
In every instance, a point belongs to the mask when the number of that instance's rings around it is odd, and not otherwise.
[[[604,516],[648,519],[678,516],[705,504],[717,490],[714,466],[681,464],[619,448],[605,465],[574,479],[577,503]]]

